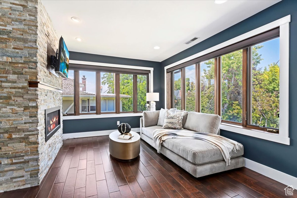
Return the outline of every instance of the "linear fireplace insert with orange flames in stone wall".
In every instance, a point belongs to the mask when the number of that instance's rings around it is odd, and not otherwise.
[[[45,110],[45,142],[61,128],[60,110],[60,106]]]

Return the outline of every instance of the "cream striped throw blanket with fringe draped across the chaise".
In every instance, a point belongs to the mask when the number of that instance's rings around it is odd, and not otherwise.
[[[160,153],[161,150],[161,143],[169,138],[190,138],[209,142],[219,148],[226,161],[226,166],[230,164],[231,156],[236,153],[237,150],[242,148],[240,143],[212,133],[188,132],[174,129],[156,129],[153,132],[153,139],[157,146],[158,153]]]

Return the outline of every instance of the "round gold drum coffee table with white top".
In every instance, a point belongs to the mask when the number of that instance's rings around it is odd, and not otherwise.
[[[118,131],[109,134],[109,153],[120,161],[132,161],[140,153],[140,135],[131,131],[129,140],[118,139],[121,135]]]

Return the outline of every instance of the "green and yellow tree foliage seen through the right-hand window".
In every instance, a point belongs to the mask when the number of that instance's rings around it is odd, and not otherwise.
[[[259,49],[252,47],[252,124],[279,128],[279,65],[271,63],[259,68],[263,61]],[[222,119],[242,122],[242,50],[221,56],[222,61]],[[214,113],[214,59],[204,62],[206,69],[200,77],[200,109],[202,113]],[[195,83],[186,80],[186,110],[195,110]],[[174,82],[174,90],[180,90],[181,78]],[[176,100],[176,106],[180,100]]]

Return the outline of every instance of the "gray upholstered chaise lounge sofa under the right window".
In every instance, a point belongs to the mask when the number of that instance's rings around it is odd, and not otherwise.
[[[160,111],[144,111],[140,118],[140,138],[156,148],[153,142],[153,131],[157,126]],[[185,112],[183,128],[186,131],[212,132],[219,134],[221,117],[218,115]],[[189,172],[194,177],[202,177],[217,172],[243,167],[245,160],[241,157],[243,147],[233,154],[231,163],[226,162],[220,150],[203,140],[167,139],[161,144],[161,153]]]

